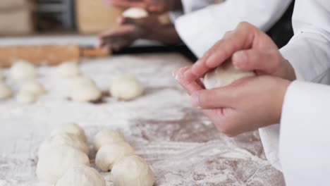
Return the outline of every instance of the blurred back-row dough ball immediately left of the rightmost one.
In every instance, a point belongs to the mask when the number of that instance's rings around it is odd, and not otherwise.
[[[72,87],[70,97],[73,101],[97,101],[102,97],[101,89],[89,77],[78,77],[73,81]]]

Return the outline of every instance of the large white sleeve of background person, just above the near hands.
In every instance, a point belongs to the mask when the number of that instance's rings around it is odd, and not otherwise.
[[[291,0],[228,0],[188,13],[176,20],[178,35],[198,57],[241,21],[269,30],[286,11]]]

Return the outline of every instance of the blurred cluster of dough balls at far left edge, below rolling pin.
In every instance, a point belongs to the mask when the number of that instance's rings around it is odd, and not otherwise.
[[[10,76],[16,82],[22,82],[16,100],[22,104],[31,104],[46,91],[42,84],[37,82],[37,69],[26,61],[18,61],[11,66]],[[13,89],[4,82],[4,73],[0,70],[0,99],[7,99],[13,96]]]

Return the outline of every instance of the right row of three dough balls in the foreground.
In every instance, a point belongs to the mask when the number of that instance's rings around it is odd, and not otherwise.
[[[94,137],[97,151],[95,163],[101,171],[111,171],[116,186],[152,186],[154,173],[148,163],[135,151],[124,137],[114,130],[102,130]]]

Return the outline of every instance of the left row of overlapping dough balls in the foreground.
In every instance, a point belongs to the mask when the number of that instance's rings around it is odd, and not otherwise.
[[[90,168],[85,131],[77,124],[62,125],[51,132],[39,148],[37,176],[56,186],[105,186],[105,180]]]

